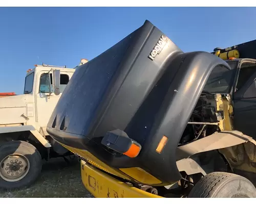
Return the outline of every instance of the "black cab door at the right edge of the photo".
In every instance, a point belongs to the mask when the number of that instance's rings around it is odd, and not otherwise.
[[[256,64],[241,65],[233,93],[234,129],[256,138]]]

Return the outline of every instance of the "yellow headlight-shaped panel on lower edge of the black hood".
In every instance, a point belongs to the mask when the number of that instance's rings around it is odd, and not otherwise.
[[[120,171],[124,172],[125,174],[131,176],[136,181],[142,183],[142,184],[161,184],[162,182],[159,181],[156,177],[151,175],[150,173],[147,173],[143,169],[139,167],[133,167],[133,168],[121,168]]]

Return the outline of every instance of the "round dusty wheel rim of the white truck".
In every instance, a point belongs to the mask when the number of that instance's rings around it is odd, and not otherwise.
[[[29,160],[24,155],[8,155],[0,162],[0,177],[7,182],[17,182],[28,174],[29,167]]]

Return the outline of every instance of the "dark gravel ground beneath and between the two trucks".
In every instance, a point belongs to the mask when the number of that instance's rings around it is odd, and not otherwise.
[[[0,190],[0,197],[93,197],[83,187],[80,176],[80,164],[71,160],[67,164],[62,158],[44,162],[42,172],[36,183],[29,188],[4,191]]]

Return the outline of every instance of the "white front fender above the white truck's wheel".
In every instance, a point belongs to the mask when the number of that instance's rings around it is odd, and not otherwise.
[[[0,134],[3,133],[15,133],[15,132],[24,132],[30,131],[35,138],[46,148],[51,147],[52,145],[42,136],[33,125],[19,125],[19,126],[5,126],[0,127]]]

